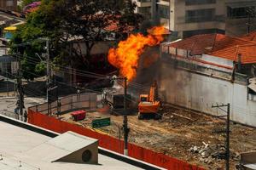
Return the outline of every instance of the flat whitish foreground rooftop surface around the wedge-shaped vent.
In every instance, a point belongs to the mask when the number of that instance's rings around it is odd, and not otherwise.
[[[15,126],[8,122],[2,122],[1,120],[2,118],[0,119],[0,169],[141,169],[140,167],[131,165],[129,163],[126,163],[125,161],[119,161],[117,159],[113,159],[112,157],[104,156],[102,154],[98,155],[99,163],[96,165],[57,161],[51,162],[49,161],[49,159],[46,159],[46,156],[40,156],[40,153],[49,153],[49,156],[51,156],[52,154],[55,155],[56,153],[53,153],[53,150],[45,150],[45,147],[43,146],[50,144],[51,148],[56,147],[55,150],[60,150],[61,146],[55,146],[53,143],[63,144],[63,142],[65,142],[64,140],[67,140],[67,135],[63,136],[62,138],[52,139],[49,136],[45,136],[44,134],[33,132],[31,130],[20,126]],[[15,120],[13,121],[15,122]],[[70,135],[71,134],[69,134],[69,136]],[[64,140],[61,141],[61,139]],[[84,139],[76,139],[75,141],[79,142],[79,145],[84,145],[83,142],[81,143],[82,140]],[[68,148],[71,148],[73,150],[73,146],[71,146],[71,144],[66,145],[68,146]],[[62,145],[61,148],[63,147],[64,146]],[[75,147],[76,150],[77,146]],[[40,148],[43,148],[44,150],[39,150]],[[37,153],[32,154],[32,150],[37,150]]]

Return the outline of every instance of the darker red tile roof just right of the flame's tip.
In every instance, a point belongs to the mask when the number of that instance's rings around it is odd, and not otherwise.
[[[179,42],[173,42],[170,47],[181,48],[191,51],[191,54],[205,54],[212,49],[215,42],[226,37],[223,34],[202,34],[183,39]]]

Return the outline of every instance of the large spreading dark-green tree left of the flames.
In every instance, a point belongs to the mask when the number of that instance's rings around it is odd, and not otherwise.
[[[49,37],[50,56],[55,62],[66,65],[77,61],[84,68],[90,65],[90,52],[96,42],[106,41],[111,33],[120,34],[125,27],[137,28],[142,17],[134,14],[135,4],[131,0],[42,0],[36,12],[29,14],[26,24],[20,26],[12,44],[32,42],[23,48],[24,60],[37,60],[35,53],[44,53],[44,42],[38,37]],[[117,28],[109,31],[109,26]],[[85,56],[73,48],[70,39],[79,37],[85,43]],[[38,60],[39,62],[39,60]],[[34,70],[36,64],[30,66]],[[44,68],[37,67],[37,71]]]

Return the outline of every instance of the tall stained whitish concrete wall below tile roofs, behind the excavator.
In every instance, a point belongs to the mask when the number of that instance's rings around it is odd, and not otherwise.
[[[170,59],[163,58],[159,82],[166,102],[212,115],[224,114],[212,109],[212,105],[230,103],[231,120],[256,127],[256,102],[247,99],[246,83],[231,83],[214,75],[175,68]]]

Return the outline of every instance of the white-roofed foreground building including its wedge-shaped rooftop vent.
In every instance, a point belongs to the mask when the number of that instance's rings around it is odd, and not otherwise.
[[[0,169],[164,169],[98,147],[78,133],[54,133],[0,116]]]

